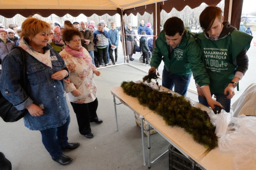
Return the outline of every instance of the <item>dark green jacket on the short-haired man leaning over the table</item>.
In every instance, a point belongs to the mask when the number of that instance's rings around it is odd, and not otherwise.
[[[162,30],[156,39],[150,66],[157,68],[163,60],[165,68],[172,74],[184,76],[190,74],[192,70],[193,77],[199,86],[210,84],[201,58],[202,52],[190,30],[185,29],[179,46],[171,54],[171,59],[169,59],[169,48],[171,46],[167,43],[165,32]]]

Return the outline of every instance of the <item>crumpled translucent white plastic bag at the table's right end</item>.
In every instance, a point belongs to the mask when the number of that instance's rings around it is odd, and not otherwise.
[[[232,152],[235,169],[256,167],[256,117],[231,117],[223,111],[216,116],[215,133],[221,151]]]

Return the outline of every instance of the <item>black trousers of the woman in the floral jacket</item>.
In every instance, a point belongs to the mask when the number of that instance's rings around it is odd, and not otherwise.
[[[98,99],[96,98],[90,103],[70,103],[76,114],[79,132],[82,135],[87,135],[91,132],[90,122],[95,122],[95,119],[98,119],[96,113],[98,108]]]

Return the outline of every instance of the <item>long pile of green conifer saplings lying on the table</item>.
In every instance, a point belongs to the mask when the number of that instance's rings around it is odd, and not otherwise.
[[[144,77],[150,82],[152,77]],[[193,139],[213,149],[218,141],[215,135],[215,126],[210,122],[207,112],[191,106],[190,101],[184,96],[172,95],[167,92],[159,92],[146,86],[143,82],[122,82],[121,87],[127,95],[137,98],[141,105],[161,115],[169,126],[179,126],[193,136]]]

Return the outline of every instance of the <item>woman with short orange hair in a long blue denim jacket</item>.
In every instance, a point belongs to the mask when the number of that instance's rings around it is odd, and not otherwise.
[[[30,130],[39,130],[45,149],[61,165],[73,161],[62,153],[75,149],[80,143],[67,142],[70,122],[63,79],[68,69],[61,56],[47,43],[51,30],[48,23],[28,18],[22,23],[19,46],[24,49],[27,63],[28,89],[20,85],[22,54],[18,49],[9,52],[2,63],[0,90],[17,110],[27,109],[24,123]]]

